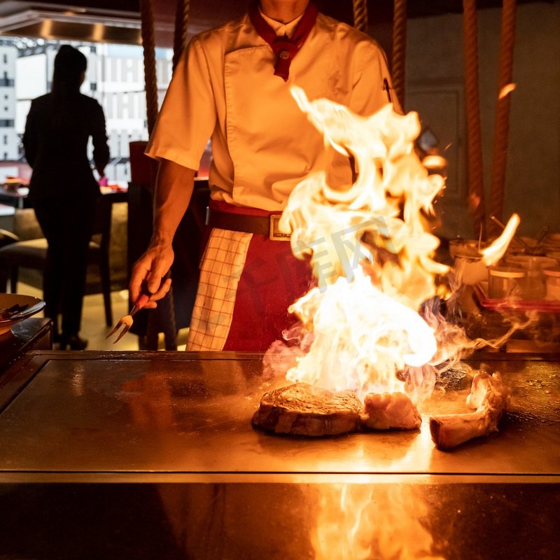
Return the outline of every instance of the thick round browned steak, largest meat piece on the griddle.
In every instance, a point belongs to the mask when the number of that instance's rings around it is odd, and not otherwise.
[[[362,403],[353,393],[334,393],[296,383],[262,395],[253,426],[292,435],[337,435],[358,430]]]

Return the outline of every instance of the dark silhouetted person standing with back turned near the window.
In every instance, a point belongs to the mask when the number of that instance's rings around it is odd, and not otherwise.
[[[99,176],[109,161],[103,109],[80,93],[87,59],[70,45],[55,57],[52,91],[31,102],[23,146],[33,168],[29,200],[48,241],[43,273],[45,316],[55,324],[55,342],[83,350],[79,337],[87,267],[97,198],[101,195],[87,159],[93,140],[93,159]],[[57,316],[62,314],[62,333]]]

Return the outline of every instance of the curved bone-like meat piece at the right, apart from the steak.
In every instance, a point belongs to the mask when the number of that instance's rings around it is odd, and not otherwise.
[[[472,379],[467,405],[476,412],[441,414],[430,418],[430,433],[437,449],[452,449],[457,445],[498,431],[498,422],[505,414],[510,395],[498,372],[478,372]]]

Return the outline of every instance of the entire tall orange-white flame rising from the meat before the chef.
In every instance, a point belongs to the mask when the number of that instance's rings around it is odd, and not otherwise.
[[[449,270],[433,260],[439,240],[424,226],[444,180],[414,151],[416,113],[387,105],[361,117],[292,92],[325,142],[353,157],[358,176],[343,191],[330,188],[324,172],[308,176],[282,214],[293,252],[311,259],[318,280],[290,307],[314,339],[286,377],[362,397],[402,390],[395,373],[428,363],[437,349],[418,311],[442,293],[435,277]]]

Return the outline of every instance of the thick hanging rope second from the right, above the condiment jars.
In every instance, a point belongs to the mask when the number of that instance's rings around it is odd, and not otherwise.
[[[478,88],[477,3],[463,0],[465,41],[465,106],[467,113],[467,181],[475,239],[486,239],[484,169]]]

